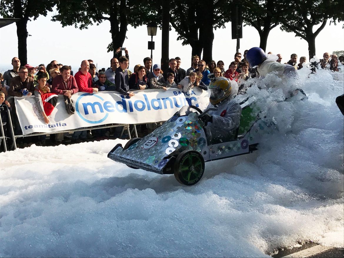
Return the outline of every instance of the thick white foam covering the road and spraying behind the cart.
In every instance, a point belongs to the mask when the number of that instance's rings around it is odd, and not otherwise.
[[[105,140],[0,153],[1,257],[268,257],[343,247],[343,73],[250,79],[279,131],[259,150],[206,163],[192,187],[107,158]],[[339,79],[338,79],[339,78]],[[280,102],[287,89],[309,96]]]

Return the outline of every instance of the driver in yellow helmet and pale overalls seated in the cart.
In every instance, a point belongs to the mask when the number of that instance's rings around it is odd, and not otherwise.
[[[241,107],[233,99],[238,92],[237,83],[231,83],[226,77],[217,77],[208,88],[211,90],[208,108],[217,108],[203,116],[208,144],[235,139],[241,116]]]

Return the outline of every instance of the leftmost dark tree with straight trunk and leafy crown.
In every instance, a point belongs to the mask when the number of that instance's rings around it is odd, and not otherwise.
[[[18,37],[18,57],[22,64],[27,63],[26,39],[28,31],[26,24],[31,19],[36,20],[40,15],[47,15],[48,11],[52,11],[55,6],[55,1],[44,0],[1,0],[0,15],[3,18],[17,18],[20,21],[17,24]]]

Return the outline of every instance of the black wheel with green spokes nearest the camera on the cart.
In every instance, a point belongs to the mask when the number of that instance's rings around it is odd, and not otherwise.
[[[184,185],[194,185],[204,173],[204,159],[193,150],[185,150],[177,156],[174,163],[174,177]]]

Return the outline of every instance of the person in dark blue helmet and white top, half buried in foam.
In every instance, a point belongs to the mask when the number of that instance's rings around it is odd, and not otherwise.
[[[264,78],[268,73],[273,71],[278,71],[278,77],[280,78],[297,75],[297,72],[293,66],[281,64],[275,60],[268,59],[264,50],[262,50],[260,47],[252,47],[246,53],[246,59],[250,64],[250,68],[258,65],[257,70],[261,78]]]

